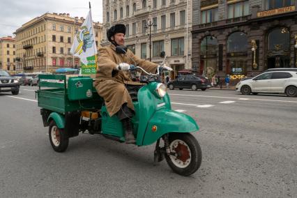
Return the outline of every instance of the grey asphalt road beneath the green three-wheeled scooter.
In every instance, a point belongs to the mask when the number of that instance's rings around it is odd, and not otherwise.
[[[169,91],[200,126],[202,164],[183,177],[153,166],[154,145],[82,134],[54,152],[34,89],[0,93],[0,197],[297,196],[297,98]]]

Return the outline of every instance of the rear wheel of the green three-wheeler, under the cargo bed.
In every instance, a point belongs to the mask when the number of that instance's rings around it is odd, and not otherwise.
[[[68,147],[69,137],[66,135],[63,128],[58,128],[55,121],[50,121],[50,128],[49,128],[49,137],[50,137],[50,144],[54,151],[56,152],[63,152],[66,151]]]

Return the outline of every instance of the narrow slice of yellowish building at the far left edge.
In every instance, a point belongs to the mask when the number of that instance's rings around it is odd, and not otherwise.
[[[11,36],[0,38],[0,69],[15,73],[15,38]]]

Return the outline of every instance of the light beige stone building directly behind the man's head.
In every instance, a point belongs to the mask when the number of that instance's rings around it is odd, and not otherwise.
[[[188,50],[192,43],[191,6],[189,0],[103,0],[102,46],[109,45],[106,31],[110,26],[125,24],[125,45],[155,63],[162,61],[160,52],[165,51],[174,78],[178,70],[192,67]]]

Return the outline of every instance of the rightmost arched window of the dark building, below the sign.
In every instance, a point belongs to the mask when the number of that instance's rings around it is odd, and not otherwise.
[[[268,33],[268,50],[287,50],[290,46],[290,33],[286,27],[278,27]]]

